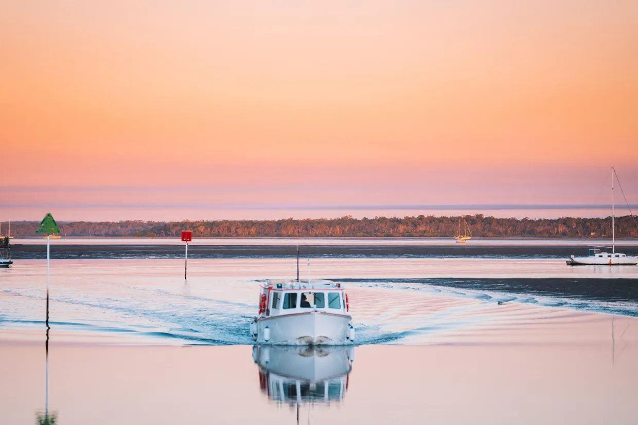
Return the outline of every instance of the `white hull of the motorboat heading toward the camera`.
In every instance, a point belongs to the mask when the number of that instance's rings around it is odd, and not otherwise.
[[[257,319],[257,342],[280,345],[345,345],[350,329],[350,315],[310,311]],[[264,329],[270,335],[266,341]]]

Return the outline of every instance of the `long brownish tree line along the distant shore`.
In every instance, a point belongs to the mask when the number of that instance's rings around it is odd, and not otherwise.
[[[192,230],[195,237],[211,236],[285,236],[285,237],[424,237],[455,236],[459,220],[465,219],[473,236],[503,237],[611,237],[611,217],[606,219],[497,219],[482,214],[464,217],[375,217],[353,219],[283,220],[198,220],[157,222],[127,220],[119,222],[58,222],[63,236],[179,237],[182,230]],[[11,224],[14,236],[35,236],[39,222]],[[616,217],[617,237],[638,237],[635,217]]]

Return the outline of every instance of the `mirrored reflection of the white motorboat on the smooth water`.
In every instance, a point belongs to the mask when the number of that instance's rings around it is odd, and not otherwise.
[[[341,401],[348,389],[354,347],[253,347],[259,385],[269,400],[297,405]]]

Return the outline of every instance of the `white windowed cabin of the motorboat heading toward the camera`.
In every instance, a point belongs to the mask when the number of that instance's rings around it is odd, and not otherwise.
[[[327,280],[312,283],[308,283],[307,280],[271,280],[262,285],[259,294],[261,317],[302,313],[308,310],[345,314],[350,310],[348,295],[341,284]]]

